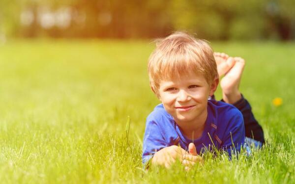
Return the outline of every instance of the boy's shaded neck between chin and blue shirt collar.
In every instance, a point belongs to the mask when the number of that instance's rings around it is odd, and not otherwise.
[[[206,120],[207,120],[208,112],[207,108],[204,110],[204,113],[200,115],[200,117],[191,122],[182,122],[177,123],[182,133],[189,139],[198,139],[202,136],[203,131],[205,129]]]

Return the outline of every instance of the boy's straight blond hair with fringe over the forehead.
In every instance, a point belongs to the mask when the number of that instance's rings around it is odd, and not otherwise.
[[[157,96],[161,80],[177,79],[190,72],[202,74],[208,84],[218,77],[213,51],[205,40],[185,32],[156,40],[156,49],[148,59],[148,76]]]

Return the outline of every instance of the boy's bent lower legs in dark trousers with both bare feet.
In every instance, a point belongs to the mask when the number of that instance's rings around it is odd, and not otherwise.
[[[219,77],[225,75],[221,81],[223,100],[236,106],[243,114],[246,137],[254,138],[262,143],[265,142],[262,127],[255,119],[251,105],[243,98],[238,90],[240,79],[245,66],[244,59],[229,57],[224,53],[214,53]]]

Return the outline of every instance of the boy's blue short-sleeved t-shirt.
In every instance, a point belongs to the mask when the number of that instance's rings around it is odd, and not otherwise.
[[[225,150],[231,156],[231,151],[240,151],[244,144],[245,128],[241,112],[223,102],[208,100],[208,116],[203,134],[200,138],[191,140],[185,137],[173,117],[157,105],[148,115],[143,146],[143,163],[145,164],[157,151],[172,145],[180,145],[187,150],[193,142],[198,154],[212,149]],[[211,141],[212,140],[212,141]]]

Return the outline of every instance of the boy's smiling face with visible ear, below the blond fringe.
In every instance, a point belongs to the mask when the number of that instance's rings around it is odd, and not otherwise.
[[[177,124],[198,121],[207,114],[207,99],[213,95],[218,79],[209,85],[201,74],[190,73],[179,79],[162,80],[159,99]]]

